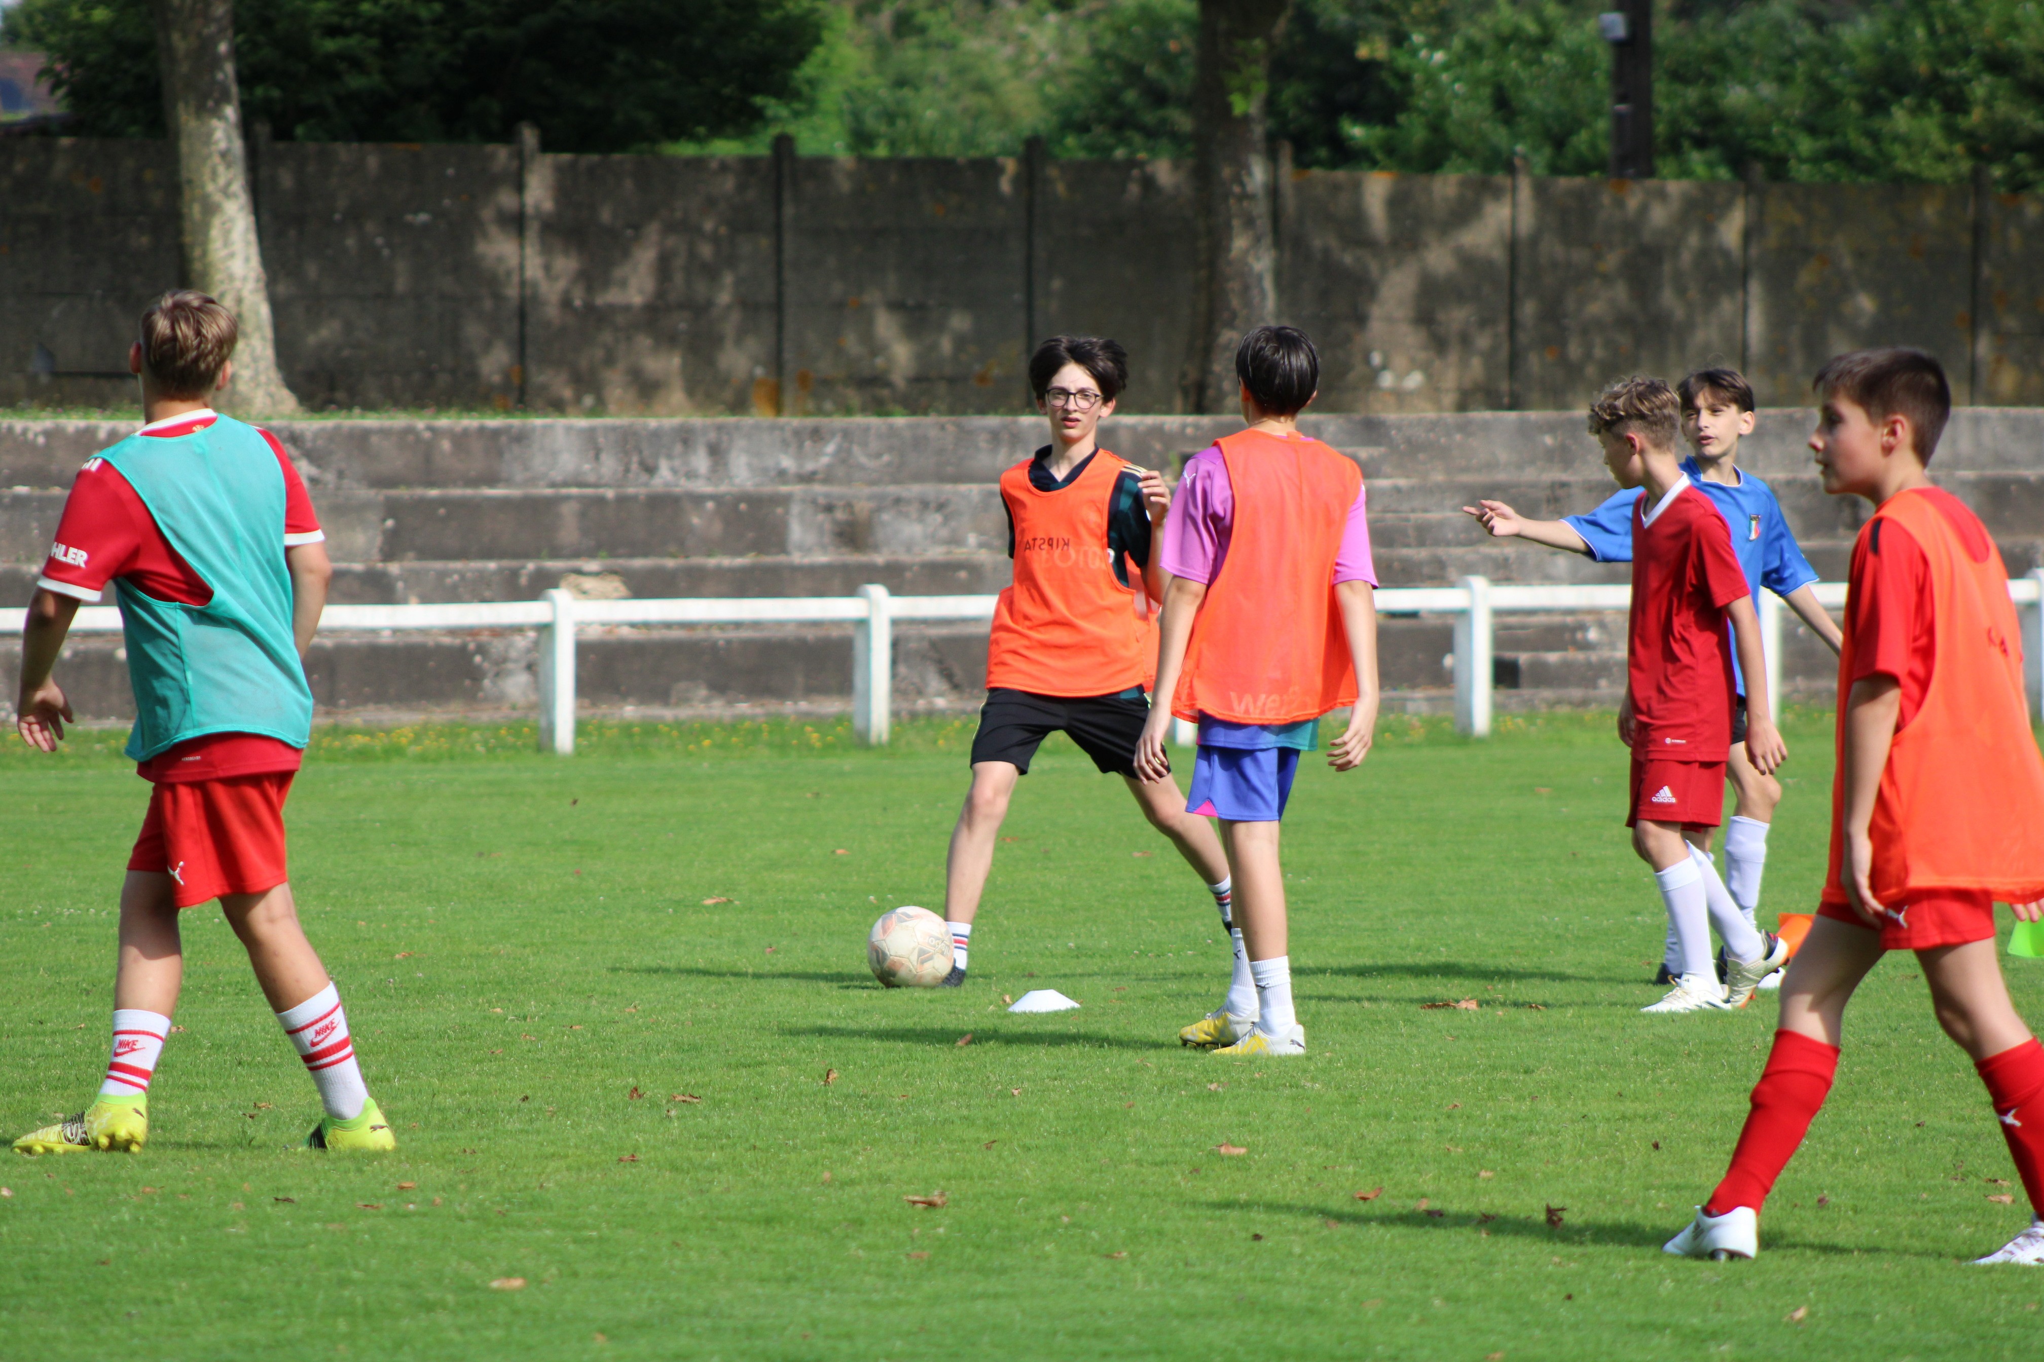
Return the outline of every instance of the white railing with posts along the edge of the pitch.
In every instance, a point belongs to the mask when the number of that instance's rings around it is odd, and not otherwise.
[[[2044,568],[2009,582],[2022,606],[2024,666],[2030,713],[2044,713]],[[540,600],[476,600],[450,604],[333,604],[323,633],[399,629],[538,629],[540,747],[574,751],[574,643],[585,625],[852,625],[852,733],[881,745],[893,711],[893,623],[993,619],[995,596],[895,596],[885,586],[861,586],[854,596],[705,596],[683,600],[578,600],[550,590]],[[1388,586],[1376,594],[1380,615],[1453,615],[1455,727],[1484,737],[1492,715],[1492,639],[1498,613],[1623,611],[1631,586],[1504,586],[1461,578],[1455,586]],[[1817,602],[1846,604],[1844,582],[1819,582]],[[1760,641],[1768,658],[1768,702],[1780,711],[1782,602],[1760,594]],[[0,633],[20,633],[27,611],[0,611]],[[82,606],[74,633],[119,633],[121,611]],[[1173,739],[1192,741],[1192,725],[1175,723]]]

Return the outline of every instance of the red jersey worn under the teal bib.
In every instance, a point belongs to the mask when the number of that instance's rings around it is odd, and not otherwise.
[[[153,421],[141,433],[174,439],[202,431],[215,421],[211,410],[194,410]],[[258,433],[270,441],[284,470],[284,547],[323,541],[327,535],[319,529],[313,498],[298,470],[290,466],[284,445],[270,431]],[[206,604],[213,598],[213,588],[170,547],[129,480],[108,464],[88,459],[63,500],[57,541],[49,545],[49,560],[35,584],[59,596],[92,602],[114,578],[157,600]],[[145,780],[164,784],[294,772],[298,749],[256,733],[211,733],[159,751],[135,770]]]

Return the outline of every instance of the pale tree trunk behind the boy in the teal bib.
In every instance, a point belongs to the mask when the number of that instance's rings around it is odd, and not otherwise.
[[[225,404],[290,415],[298,398],[276,368],[270,282],[256,235],[241,94],[235,88],[233,0],[151,0],[164,67],[164,123],[178,149],[184,278],[235,314],[235,380]]]

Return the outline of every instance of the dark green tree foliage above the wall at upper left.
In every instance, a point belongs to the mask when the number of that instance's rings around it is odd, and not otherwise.
[[[816,0],[264,0],[235,20],[241,108],[305,141],[505,141],[556,151],[746,133],[822,37]],[[96,137],[161,137],[149,0],[22,0]]]

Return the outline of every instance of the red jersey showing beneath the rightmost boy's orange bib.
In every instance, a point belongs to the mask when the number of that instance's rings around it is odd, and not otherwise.
[[[1958,531],[1966,555],[1977,564],[1987,562],[1993,539],[1962,500],[1944,488],[1915,488],[1901,496],[1927,498]],[[1930,562],[1915,537],[1895,521],[1874,521],[1872,533],[1854,545],[1846,617],[1856,639],[1850,680],[1893,676],[1901,686],[1895,727],[1905,727],[1923,707],[1938,647]]]

